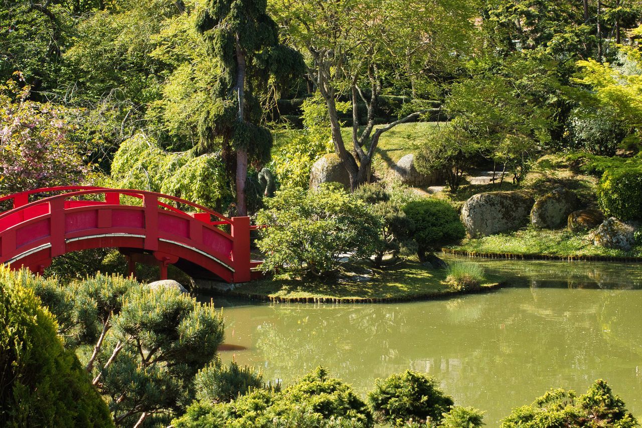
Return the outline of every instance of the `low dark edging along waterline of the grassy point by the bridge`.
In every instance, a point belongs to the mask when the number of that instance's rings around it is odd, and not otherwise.
[[[320,296],[309,296],[309,297],[295,297],[288,298],[282,296],[267,296],[265,294],[254,294],[248,292],[239,292],[234,290],[216,290],[216,289],[196,289],[197,291],[204,292],[215,292],[221,296],[227,296],[232,298],[243,298],[256,301],[265,301],[270,303],[392,303],[392,302],[404,302],[404,301],[421,301],[421,300],[438,300],[438,299],[448,299],[455,296],[462,296],[465,294],[478,294],[483,292],[489,292],[492,290],[497,290],[501,288],[503,283],[492,283],[484,284],[479,290],[473,291],[455,291],[455,290],[445,290],[443,292],[429,292],[424,294],[415,294],[414,296],[399,296],[391,298],[331,298],[331,297],[320,297]]]

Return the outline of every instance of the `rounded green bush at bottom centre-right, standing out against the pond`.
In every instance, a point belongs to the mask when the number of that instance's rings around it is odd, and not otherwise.
[[[377,421],[401,427],[406,422],[438,424],[453,407],[453,398],[438,388],[437,380],[417,371],[377,379],[368,393],[368,404]]]

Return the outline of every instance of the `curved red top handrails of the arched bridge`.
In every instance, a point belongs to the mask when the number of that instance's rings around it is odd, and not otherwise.
[[[168,210],[174,211],[176,213],[181,213],[185,215],[189,215],[185,211],[178,210],[177,208],[174,208],[171,205],[165,204],[164,202],[160,202],[159,199],[168,199],[169,201],[174,201],[178,202],[179,204],[186,204],[187,206],[191,206],[192,208],[196,208],[196,210],[203,211],[204,213],[208,213],[210,215],[214,215],[214,217],[218,217],[221,220],[223,220],[222,224],[232,224],[232,220],[228,217],[225,217],[224,215],[217,213],[214,210],[210,210],[207,207],[204,207],[202,205],[196,204],[195,202],[190,202],[187,201],[186,199],[182,199],[179,197],[171,196],[171,195],[165,195],[164,193],[158,193],[158,192],[150,192],[148,190],[132,190],[132,189],[112,189],[112,188],[105,188],[105,187],[96,187],[96,186],[58,186],[58,187],[49,187],[49,188],[40,188],[40,189],[34,189],[34,190],[28,190],[26,192],[20,192],[20,193],[14,193],[13,195],[6,195],[4,197],[0,197],[0,202],[2,201],[8,201],[10,199],[14,199],[16,196],[24,195],[28,197],[28,195],[31,195],[33,193],[44,193],[44,192],[59,192],[59,191],[64,191],[64,190],[74,190],[74,189],[84,189],[84,190],[79,190],[76,192],[69,192],[69,193],[62,193],[60,195],[54,195],[50,197],[46,197],[44,199],[38,199],[37,201],[29,202],[28,204],[23,204],[20,206],[17,206],[13,208],[12,210],[4,211],[3,213],[0,213],[0,219],[7,217],[8,215],[12,215],[13,213],[17,213],[21,210],[25,210],[26,208],[30,208],[32,206],[37,206],[39,204],[43,203],[48,203],[51,201],[54,201],[56,199],[67,199],[69,197],[76,197],[76,196],[82,196],[82,195],[100,195],[100,194],[105,194],[107,193],[117,193],[120,195],[126,195],[126,196],[132,196],[136,197],[139,199],[143,199],[144,195],[150,195],[156,198],[156,202],[159,206],[162,206],[162,208],[166,208]],[[210,224],[221,224],[221,222],[209,222]]]

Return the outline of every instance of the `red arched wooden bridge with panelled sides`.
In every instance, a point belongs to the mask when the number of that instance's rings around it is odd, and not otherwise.
[[[0,213],[0,263],[13,269],[42,273],[56,256],[101,247],[125,254],[130,273],[137,262],[159,265],[161,279],[174,264],[193,276],[247,282],[260,263],[250,260],[256,226],[249,217],[227,218],[162,193],[65,186],[0,197],[0,204],[8,208]]]

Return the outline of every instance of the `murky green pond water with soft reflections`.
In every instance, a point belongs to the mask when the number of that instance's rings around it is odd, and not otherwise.
[[[449,258],[453,260],[454,258]],[[287,385],[322,365],[359,392],[406,369],[436,377],[489,427],[551,387],[607,379],[642,416],[642,265],[475,260],[508,286],[454,299],[374,305],[225,306],[222,352]]]

